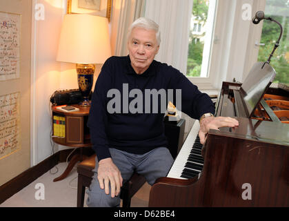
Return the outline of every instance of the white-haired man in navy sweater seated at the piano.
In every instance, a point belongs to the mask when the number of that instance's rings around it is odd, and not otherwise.
[[[152,185],[158,177],[165,177],[172,166],[163,131],[163,113],[141,111],[146,108],[146,101],[138,108],[140,111],[132,113],[132,94],[137,91],[180,89],[181,111],[200,119],[201,143],[210,128],[239,124],[230,117],[214,117],[215,108],[208,95],[201,93],[179,70],[154,60],[160,41],[157,23],[139,18],[128,32],[129,55],[110,57],[103,64],[88,119],[92,148],[98,160],[88,189],[88,206],[119,206],[121,186],[134,171]],[[121,96],[114,93],[113,97],[112,89],[120,91]],[[109,105],[112,99],[120,99],[114,102],[114,112],[108,110],[113,107]]]

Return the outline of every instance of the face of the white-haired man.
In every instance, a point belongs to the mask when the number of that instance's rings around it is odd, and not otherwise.
[[[128,52],[132,68],[137,74],[144,73],[159,51],[155,30],[133,28],[128,37]]]

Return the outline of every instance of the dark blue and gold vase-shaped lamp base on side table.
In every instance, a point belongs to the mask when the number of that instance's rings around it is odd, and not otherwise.
[[[90,95],[90,91],[92,89],[94,70],[94,64],[77,64],[78,86],[83,97],[83,102],[79,104],[80,106],[90,106],[88,96]]]

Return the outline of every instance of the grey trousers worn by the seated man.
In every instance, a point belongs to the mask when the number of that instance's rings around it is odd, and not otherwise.
[[[110,148],[110,155],[112,161],[121,171],[121,177],[123,177],[123,183],[128,181],[132,176],[132,173],[137,173],[146,177],[148,184],[152,185],[159,177],[166,177],[170,167],[174,160],[170,151],[166,147],[155,148],[152,151],[143,155],[137,155],[133,153],[127,153],[125,151],[119,151],[114,148]],[[98,160],[95,160],[94,175],[92,177],[92,183],[88,188],[88,200],[86,204],[94,207],[112,207],[119,206],[120,198],[112,198],[110,194],[106,194],[104,189],[100,189],[99,181],[97,180]]]

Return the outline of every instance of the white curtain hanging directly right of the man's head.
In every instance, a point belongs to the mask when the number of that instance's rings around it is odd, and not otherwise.
[[[146,0],[145,17],[159,24],[161,46],[156,60],[186,74],[192,0]]]

